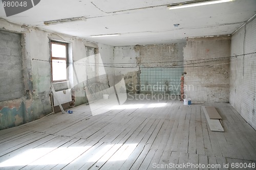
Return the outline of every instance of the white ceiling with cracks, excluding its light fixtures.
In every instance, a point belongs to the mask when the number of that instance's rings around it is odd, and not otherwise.
[[[227,35],[256,12],[255,0],[168,10],[167,5],[185,0],[41,0],[35,7],[6,20],[113,46],[185,42],[186,37]],[[87,18],[46,26],[44,21]],[[179,23],[175,28],[174,24]],[[0,26],[1,27],[1,26]],[[115,34],[115,37],[91,35]]]

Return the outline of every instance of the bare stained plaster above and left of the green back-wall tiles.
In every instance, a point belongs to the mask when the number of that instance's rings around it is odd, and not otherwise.
[[[124,77],[126,91],[140,92],[140,66],[163,67],[183,64],[185,43],[118,46],[114,48],[116,83]],[[180,62],[178,62],[180,61]]]

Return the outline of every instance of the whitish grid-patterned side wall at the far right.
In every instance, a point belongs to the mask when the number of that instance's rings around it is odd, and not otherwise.
[[[256,18],[231,37],[230,104],[256,129]]]

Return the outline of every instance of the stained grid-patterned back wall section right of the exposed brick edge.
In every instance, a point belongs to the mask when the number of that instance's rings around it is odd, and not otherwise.
[[[194,103],[229,102],[230,36],[188,38],[184,97]]]

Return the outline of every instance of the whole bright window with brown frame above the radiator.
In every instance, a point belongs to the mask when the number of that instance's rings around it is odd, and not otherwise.
[[[67,81],[68,44],[51,41],[52,81]]]

